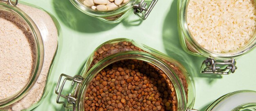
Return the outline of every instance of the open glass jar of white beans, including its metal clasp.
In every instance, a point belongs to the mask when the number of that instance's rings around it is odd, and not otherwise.
[[[119,23],[131,12],[146,20],[158,0],[152,0],[149,6],[144,0],[70,0],[83,13],[108,23]]]

